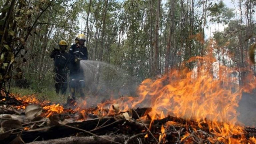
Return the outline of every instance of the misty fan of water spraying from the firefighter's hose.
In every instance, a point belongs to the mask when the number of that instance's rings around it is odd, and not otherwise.
[[[97,104],[121,96],[136,95],[139,82],[126,71],[99,61],[80,61],[80,66],[84,72],[87,102]]]

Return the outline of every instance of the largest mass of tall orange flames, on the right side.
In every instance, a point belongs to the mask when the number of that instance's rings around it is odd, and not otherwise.
[[[119,104],[120,111],[151,107],[148,115],[152,121],[167,115],[195,120],[199,128],[208,124],[215,139],[222,137],[224,143],[243,143],[243,127],[235,125],[236,108],[242,93],[255,88],[255,76],[249,68],[244,68],[249,71],[245,79],[247,83],[239,86],[238,77],[234,75],[237,69],[219,64],[212,55],[209,51],[205,57],[191,58],[188,62],[198,63],[193,69],[183,64],[182,70],[173,69],[156,80],[146,79],[138,87],[138,97],[122,97],[98,104],[99,111],[102,115],[114,114],[113,104]]]

